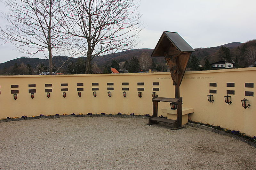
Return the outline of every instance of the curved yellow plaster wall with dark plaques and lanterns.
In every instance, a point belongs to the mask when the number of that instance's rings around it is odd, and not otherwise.
[[[180,86],[183,107],[194,108],[194,113],[189,114],[192,121],[256,136],[255,97],[244,96],[245,91],[255,93],[255,75],[256,68],[186,72]],[[122,82],[129,82],[129,85],[122,85]],[[144,86],[138,86],[138,82],[144,82]],[[159,86],[153,86],[153,82],[159,82]],[[68,86],[61,86],[61,83],[68,83]],[[76,83],[84,83],[84,86],[76,86]],[[92,83],[99,83],[99,86],[92,86]],[[114,85],[108,86],[107,83]],[[217,87],[210,87],[209,83],[217,83]],[[226,83],[235,83],[235,87],[226,87]],[[246,88],[244,83],[254,83],[254,88]],[[36,84],[36,87],[28,87],[28,84]],[[45,84],[52,84],[52,87],[45,87]],[[11,88],[11,85],[19,85],[19,88]],[[93,87],[99,87],[97,97],[92,95]],[[107,95],[107,87],[114,87],[111,97]],[[122,87],[129,87],[126,98],[122,95]],[[138,87],[144,87],[142,98],[138,97]],[[0,76],[0,118],[88,112],[152,115],[153,87],[160,89],[156,91],[160,97],[174,97],[170,73]],[[45,93],[48,88],[52,88],[49,99]],[[66,98],[62,97],[61,88],[68,88]],[[84,88],[81,98],[78,97],[76,88]],[[31,99],[28,89],[36,89],[34,99]],[[210,89],[217,90],[217,94],[213,94],[214,103],[207,100]],[[17,100],[13,99],[11,90],[19,90]],[[235,90],[235,95],[230,95],[231,105],[224,102],[226,90]],[[249,100],[250,108],[242,107],[241,100],[244,98]],[[158,115],[167,117],[167,114],[161,112],[166,107],[170,107],[170,104],[160,102]]]

